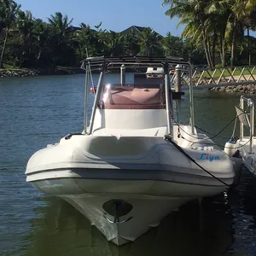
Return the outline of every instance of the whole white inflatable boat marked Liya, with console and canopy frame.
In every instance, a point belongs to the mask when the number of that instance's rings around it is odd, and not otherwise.
[[[168,57],[89,57],[84,129],[32,155],[26,181],[73,205],[108,241],[135,241],[188,201],[218,195],[234,182],[234,162],[190,124],[173,117],[170,69],[189,62]],[[161,67],[159,84],[125,83],[125,68]],[[100,71],[88,125],[90,72]],[[120,84],[105,82],[120,71]],[[191,76],[190,76],[191,77]]]

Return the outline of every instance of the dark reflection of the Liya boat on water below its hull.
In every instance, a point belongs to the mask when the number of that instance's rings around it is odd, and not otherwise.
[[[133,243],[115,247],[108,243],[82,214],[67,202],[47,198],[37,207],[32,233],[25,237],[30,247],[26,255],[106,255],[106,256],[198,256],[224,254],[233,243],[232,214],[226,198],[190,202],[164,218],[158,228]],[[201,211],[200,211],[201,210]]]

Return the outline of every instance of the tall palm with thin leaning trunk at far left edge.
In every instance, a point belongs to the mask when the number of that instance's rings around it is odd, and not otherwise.
[[[13,0],[0,0],[0,20],[2,29],[4,29],[5,36],[3,41],[3,49],[0,56],[0,68],[3,68],[3,55],[6,49],[6,44],[9,36],[9,29],[15,21],[16,14],[20,9],[20,4],[15,3]]]

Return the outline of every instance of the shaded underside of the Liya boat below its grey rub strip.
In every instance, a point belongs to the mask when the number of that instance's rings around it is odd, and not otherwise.
[[[224,191],[223,186],[85,178],[55,178],[41,180],[32,185],[47,194],[59,195],[68,201],[88,218],[108,241],[117,245],[135,241],[185,202]],[[132,206],[131,212],[119,218],[120,222],[128,219],[127,222],[113,223],[113,215],[108,214],[102,207],[104,203],[114,200],[124,201]]]

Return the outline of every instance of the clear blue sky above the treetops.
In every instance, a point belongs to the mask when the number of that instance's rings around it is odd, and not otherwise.
[[[35,18],[47,20],[55,12],[73,18],[73,26],[81,22],[91,28],[102,21],[102,29],[121,32],[129,26],[150,26],[165,36],[171,32],[179,36],[183,30],[177,28],[177,18],[170,20],[165,15],[168,7],[161,6],[163,0],[16,0],[23,11],[30,10]]]

